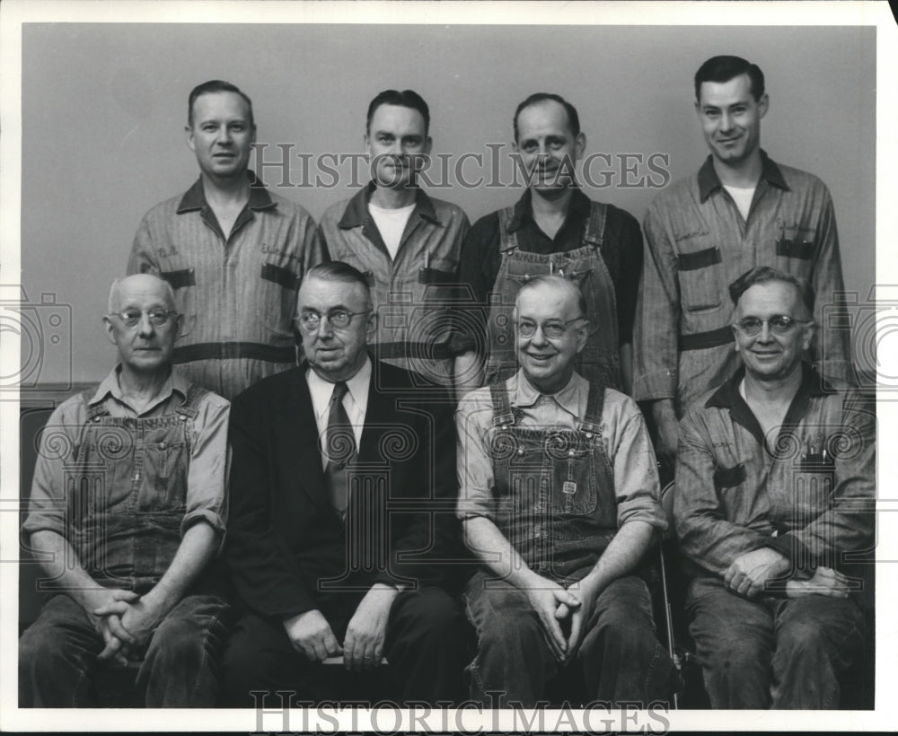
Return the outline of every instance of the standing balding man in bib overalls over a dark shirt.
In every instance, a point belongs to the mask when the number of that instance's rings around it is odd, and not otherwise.
[[[589,331],[577,372],[629,393],[639,223],[577,187],[586,137],[570,102],[533,94],[515,110],[514,126],[528,188],[515,206],[481,218],[462,243],[461,280],[476,308],[459,312],[455,384],[463,393],[516,372],[515,295],[527,279],[555,273],[574,280],[586,300]]]

